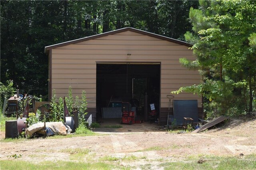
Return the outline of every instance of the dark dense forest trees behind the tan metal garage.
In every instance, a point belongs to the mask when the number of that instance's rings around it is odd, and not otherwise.
[[[44,47],[125,27],[183,40],[197,1],[0,1],[1,82],[48,94]]]

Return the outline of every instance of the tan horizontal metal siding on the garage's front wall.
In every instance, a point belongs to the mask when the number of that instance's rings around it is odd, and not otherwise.
[[[160,62],[160,107],[166,108],[170,91],[201,80],[198,71],[180,65],[181,57],[194,59],[187,46],[130,31],[70,44],[52,49],[52,89],[57,97],[66,96],[70,85],[74,96],[86,90],[88,107],[96,108],[96,62]],[[198,95],[182,93],[174,99],[197,99],[202,107]]]

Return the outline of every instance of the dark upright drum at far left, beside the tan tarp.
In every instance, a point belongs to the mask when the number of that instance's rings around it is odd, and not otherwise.
[[[17,121],[5,121],[5,138],[19,137]]]

